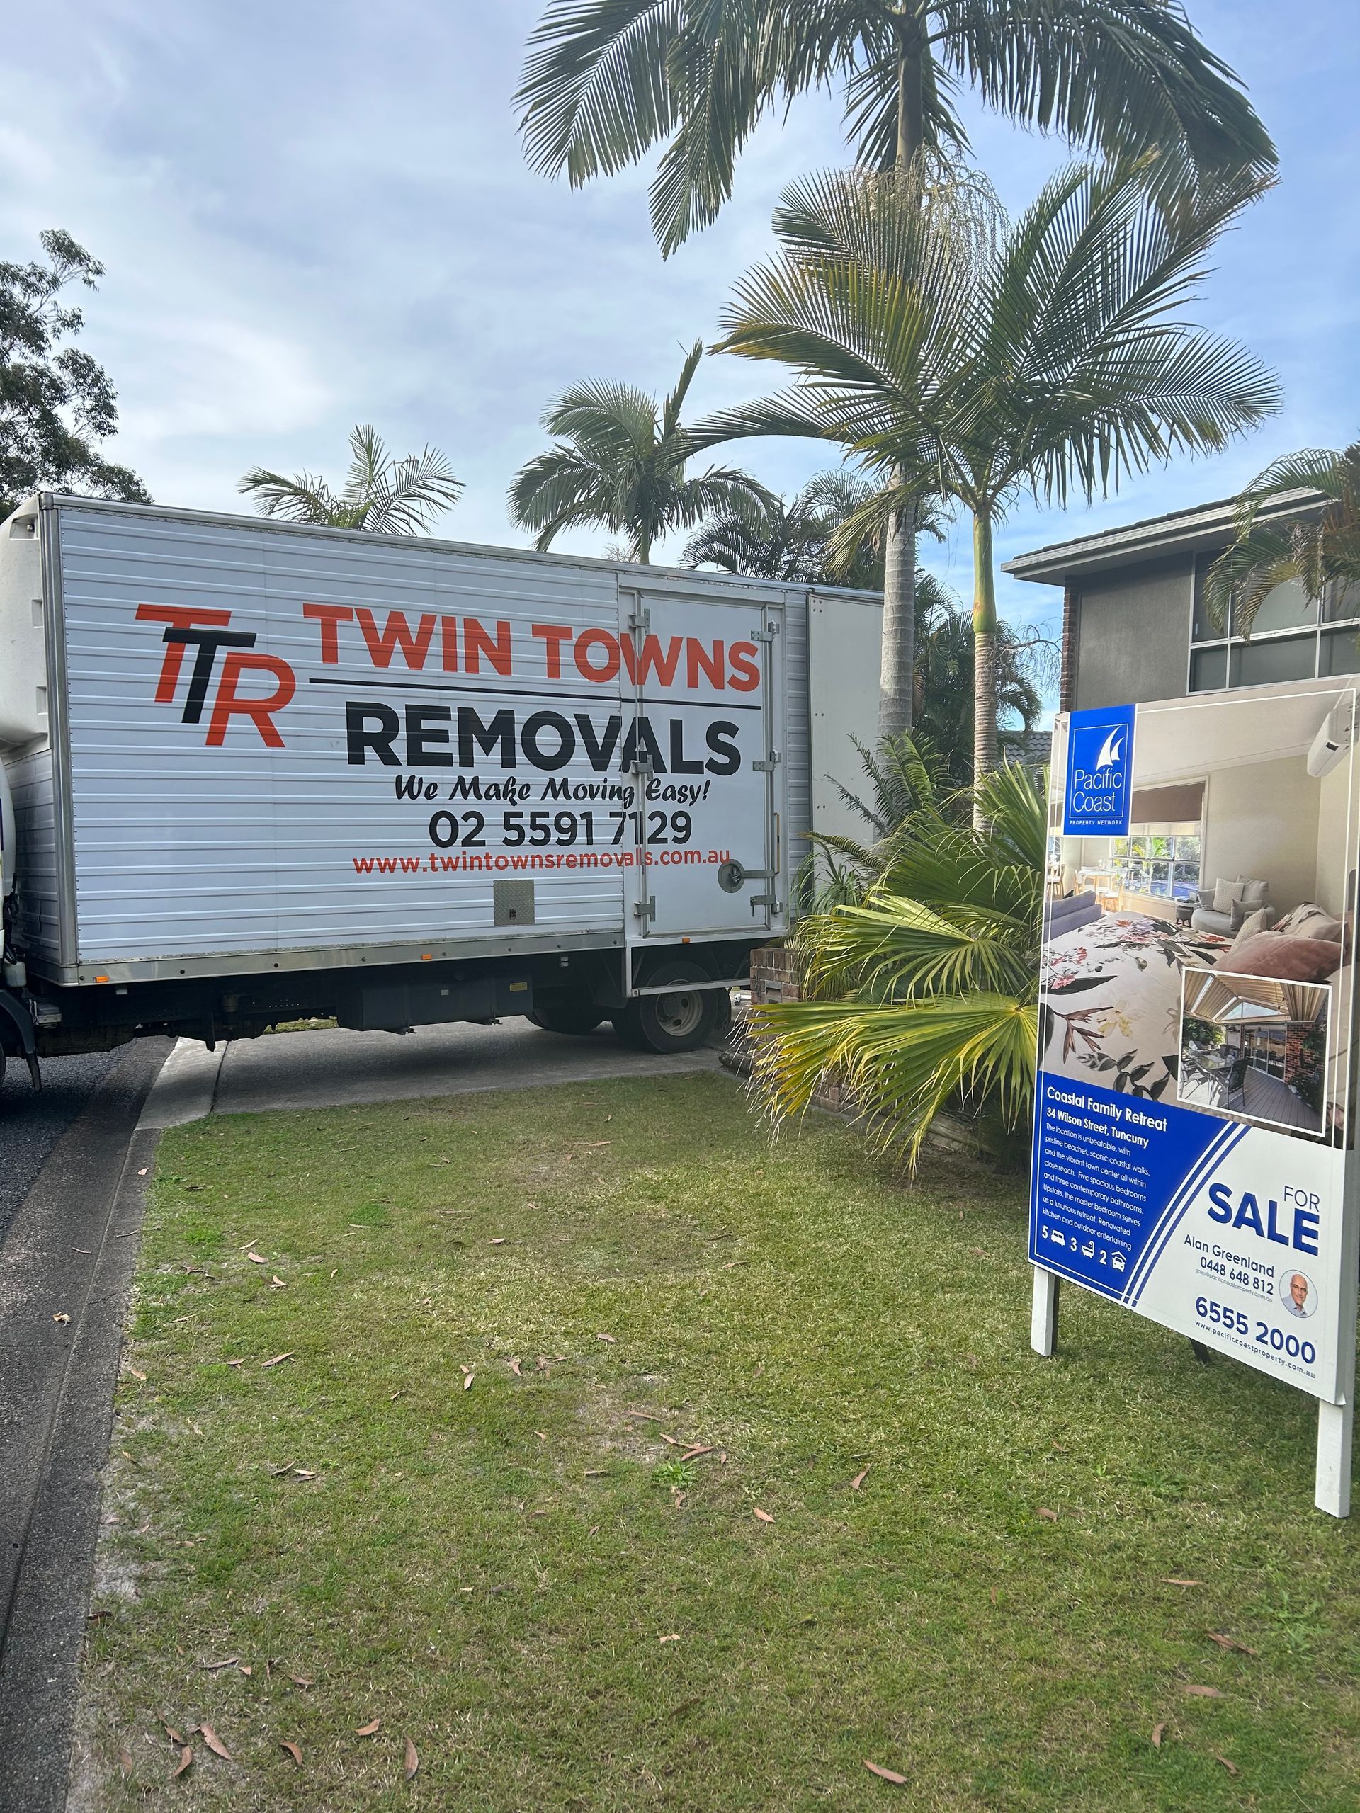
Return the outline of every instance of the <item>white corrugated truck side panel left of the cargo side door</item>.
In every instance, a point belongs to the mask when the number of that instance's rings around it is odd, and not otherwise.
[[[399,774],[426,771],[348,767],[345,702],[415,709],[455,702],[490,718],[497,702],[537,687],[551,694],[544,705],[578,700],[598,720],[602,689],[549,678],[546,644],[529,625],[617,629],[618,622],[617,575],[607,567],[67,504],[62,577],[82,961],[490,932],[491,874],[459,872],[452,881],[419,867],[393,881],[355,870],[370,856],[410,865],[442,856],[430,847],[430,814],[437,805],[461,816],[464,809],[446,798],[395,798]],[[355,624],[337,631],[339,660],[326,664],[319,625],[303,618],[303,604],[364,609],[379,633],[393,609],[413,625],[424,616],[477,616],[491,635],[506,622],[515,678],[488,671],[482,658],[477,676],[435,671],[423,682],[424,669],[408,667],[401,653],[375,673]],[[297,691],[287,707],[287,747],[265,747],[241,718],[228,723],[221,747],[205,745],[210,711],[183,722],[194,647],[174,700],[156,703],[167,649],[160,624],[138,622],[138,606],[230,613],[230,633],[257,638],[252,653],[288,662]],[[432,647],[439,635],[435,624]],[[218,674],[221,662],[218,654]],[[428,662],[439,669],[437,653]],[[441,794],[453,778],[433,765],[428,774],[441,780]],[[600,781],[580,751],[560,776]],[[450,850],[448,859],[457,854],[479,856]],[[539,932],[617,930],[618,870],[535,879]]]

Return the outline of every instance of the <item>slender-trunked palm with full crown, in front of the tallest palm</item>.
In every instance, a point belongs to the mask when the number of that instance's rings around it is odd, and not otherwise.
[[[996,765],[994,528],[1032,495],[1092,497],[1173,451],[1222,448],[1278,406],[1248,352],[1173,319],[1219,232],[1260,183],[1162,208],[1148,161],[1073,165],[979,245],[898,179],[811,178],[774,218],[782,256],[749,274],[722,350],[796,372],[789,392],[713,417],[714,435],[820,426],[883,473],[852,540],[930,486],[974,526],[974,776]]]

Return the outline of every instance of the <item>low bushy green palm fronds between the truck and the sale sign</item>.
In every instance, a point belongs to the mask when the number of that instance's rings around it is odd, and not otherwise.
[[[753,1086],[776,1120],[834,1079],[908,1162],[941,1110],[997,1135],[1032,1113],[1046,778],[1005,767],[963,798],[919,776],[912,790],[865,899],[801,923],[805,999],[751,1015]]]

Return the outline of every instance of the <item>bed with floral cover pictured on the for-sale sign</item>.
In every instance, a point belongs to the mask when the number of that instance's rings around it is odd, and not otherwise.
[[[1043,948],[1041,1068],[1175,1100],[1180,972],[1213,968],[1231,943],[1135,912],[1061,932]]]

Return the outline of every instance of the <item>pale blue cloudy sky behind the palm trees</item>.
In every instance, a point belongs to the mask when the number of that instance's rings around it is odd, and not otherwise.
[[[1280,183],[1217,248],[1193,319],[1280,375],[1284,410],[1226,453],[1177,461],[1113,499],[1019,502],[999,558],[1209,499],[1277,455],[1360,424],[1360,29],[1355,0],[1190,0],[1280,150]],[[548,444],[546,402],[613,377],[671,388],[724,301],[771,248],[780,190],[847,163],[840,109],[767,121],[720,219],[669,261],[651,165],[571,190],[531,172],[511,96],[540,0],[47,0],[5,44],[0,259],[62,227],[105,267],[82,344],[118,393],[109,457],[158,502],[248,509],[263,464],[339,480],[354,422],[395,453],[439,446],[466,491],[439,533],[520,544],[517,468]],[[967,111],[977,163],[1019,210],[1066,149]],[[769,368],[705,359],[691,415],[760,395]],[[716,455],[727,457],[727,455]],[[792,493],[834,464],[798,442],[736,455]],[[560,546],[604,553],[600,531]],[[680,542],[658,558],[678,558]],[[972,591],[967,533],[923,564]],[[1061,596],[1003,577],[1014,622],[1054,629]]]

